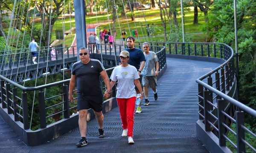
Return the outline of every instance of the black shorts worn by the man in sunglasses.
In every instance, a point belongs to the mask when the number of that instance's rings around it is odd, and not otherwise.
[[[103,95],[88,96],[81,93],[77,93],[77,109],[90,109],[92,108],[96,112],[102,111]]]

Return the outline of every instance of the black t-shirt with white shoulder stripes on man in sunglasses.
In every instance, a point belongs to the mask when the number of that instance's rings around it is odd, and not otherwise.
[[[71,74],[76,75],[76,87],[79,93],[88,96],[102,95],[102,82],[100,72],[105,70],[102,63],[97,59],[83,64],[77,61],[72,65]]]

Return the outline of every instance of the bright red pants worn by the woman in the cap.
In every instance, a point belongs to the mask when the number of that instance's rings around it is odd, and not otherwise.
[[[116,100],[119,106],[122,128],[128,129],[127,136],[133,137],[134,109],[136,97],[134,96],[128,99],[116,98]]]

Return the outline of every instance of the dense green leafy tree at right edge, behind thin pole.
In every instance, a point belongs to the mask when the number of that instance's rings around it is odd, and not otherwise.
[[[256,109],[256,1],[237,1],[237,29],[239,46],[239,101]],[[217,42],[226,43],[234,48],[233,1],[215,0],[209,23],[204,28]],[[255,118],[247,117],[256,131]]]

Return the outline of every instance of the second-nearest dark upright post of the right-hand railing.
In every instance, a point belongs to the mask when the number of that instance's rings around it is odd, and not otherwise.
[[[222,99],[217,99],[217,106],[218,106],[218,139],[219,139],[219,145],[220,146],[226,146],[226,139],[224,138],[225,134],[225,127],[222,125],[222,123],[225,122],[225,116],[222,113],[225,109],[225,101]]]

